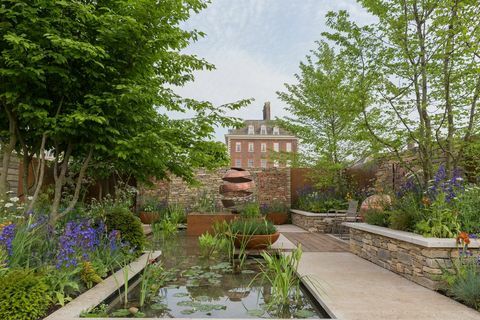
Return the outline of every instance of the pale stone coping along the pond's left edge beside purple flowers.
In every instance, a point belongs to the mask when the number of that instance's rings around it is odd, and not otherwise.
[[[130,263],[128,268],[128,280],[132,279],[138,273],[140,273],[148,263],[149,259],[157,259],[161,255],[161,251],[147,252],[141,255],[138,259]],[[110,297],[118,288],[122,287],[125,283],[123,268],[115,272],[110,277],[104,279],[102,282],[85,291],[64,307],[53,312],[47,316],[44,320],[76,320],[84,319],[80,318],[82,311],[94,308],[105,299]],[[102,318],[106,320],[108,318]],[[119,318],[115,318],[119,319]],[[138,318],[137,318],[138,319]]]

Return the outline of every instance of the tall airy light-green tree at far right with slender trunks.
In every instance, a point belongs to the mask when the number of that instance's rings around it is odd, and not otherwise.
[[[476,1],[363,0],[378,20],[367,26],[329,13],[324,36],[348,57],[352,88],[374,141],[397,155],[423,186],[434,160],[461,161],[478,128]],[[416,151],[408,157],[407,145]]]

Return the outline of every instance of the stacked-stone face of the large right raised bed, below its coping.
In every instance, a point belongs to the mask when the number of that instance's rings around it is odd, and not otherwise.
[[[354,228],[350,228],[350,250],[432,290],[439,289],[442,273],[459,255],[456,247],[425,247]]]

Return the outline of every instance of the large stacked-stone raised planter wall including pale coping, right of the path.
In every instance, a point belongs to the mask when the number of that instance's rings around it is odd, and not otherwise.
[[[366,223],[343,223],[350,228],[350,251],[385,269],[432,290],[439,289],[441,275],[458,258],[455,239],[421,235]],[[469,248],[479,251],[480,241]]]

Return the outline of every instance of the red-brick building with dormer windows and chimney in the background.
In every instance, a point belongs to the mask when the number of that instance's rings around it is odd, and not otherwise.
[[[270,102],[263,106],[262,120],[245,120],[243,127],[228,131],[225,141],[230,165],[240,168],[288,167],[298,148],[298,138],[271,121]]]

